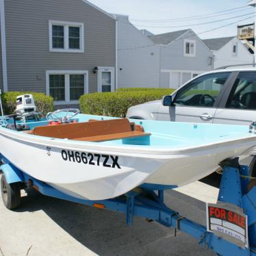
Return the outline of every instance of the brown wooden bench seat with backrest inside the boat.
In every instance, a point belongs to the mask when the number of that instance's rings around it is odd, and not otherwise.
[[[129,123],[127,118],[112,120],[89,120],[86,123],[68,123],[64,125],[35,127],[31,134],[51,138],[101,142],[150,136],[144,133],[141,125]]]

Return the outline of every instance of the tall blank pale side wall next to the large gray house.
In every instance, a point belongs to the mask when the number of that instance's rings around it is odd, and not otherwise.
[[[159,47],[118,16],[118,88],[159,87]]]

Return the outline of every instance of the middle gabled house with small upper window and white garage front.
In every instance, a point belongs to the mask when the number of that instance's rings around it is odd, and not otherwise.
[[[160,87],[178,88],[213,68],[213,54],[192,31],[185,29],[149,36],[159,46]]]

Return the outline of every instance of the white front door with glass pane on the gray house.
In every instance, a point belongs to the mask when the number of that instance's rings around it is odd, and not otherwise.
[[[99,92],[114,92],[114,68],[98,69],[98,91]]]

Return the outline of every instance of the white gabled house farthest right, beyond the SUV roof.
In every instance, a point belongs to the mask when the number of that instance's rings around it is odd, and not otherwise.
[[[214,68],[253,63],[253,54],[236,36],[205,39],[203,42],[214,54]]]

